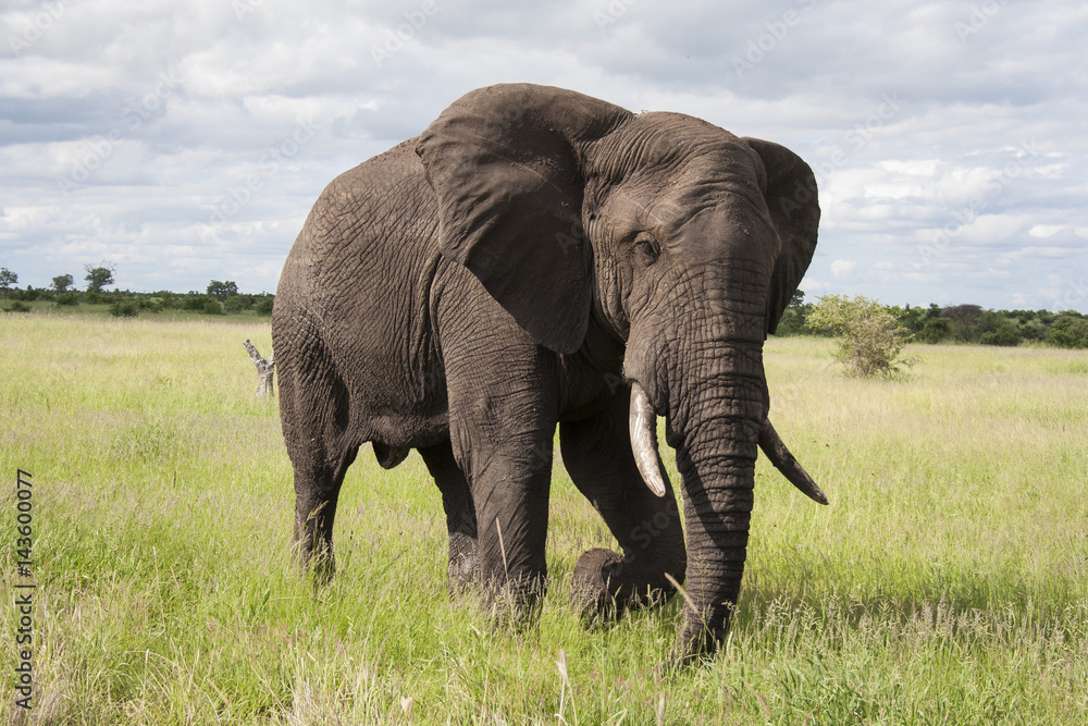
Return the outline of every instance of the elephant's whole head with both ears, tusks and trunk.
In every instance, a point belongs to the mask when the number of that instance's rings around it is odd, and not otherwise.
[[[468,94],[417,151],[445,256],[542,345],[605,370],[622,356],[635,457],[659,493],[666,417],[688,532],[675,656],[713,652],[740,589],[757,448],[823,500],[767,421],[763,368],[816,246],[812,171],[691,116],[532,85]]]

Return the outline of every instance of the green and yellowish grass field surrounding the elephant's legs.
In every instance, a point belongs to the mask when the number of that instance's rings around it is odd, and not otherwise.
[[[761,460],[728,648],[666,677],[677,603],[592,630],[570,612],[576,558],[611,543],[558,467],[535,627],[496,631],[447,592],[416,455],[360,454],[314,590],[247,337],[267,354],[267,320],[0,315],[0,471],[34,475],[38,586],[14,723],[1088,722],[1084,353],[912,346],[905,379],[871,382],[836,370],[832,341],[770,341],[772,418],[831,505]]]

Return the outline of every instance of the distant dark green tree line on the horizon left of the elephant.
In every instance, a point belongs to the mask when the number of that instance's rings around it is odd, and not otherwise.
[[[75,307],[78,305],[108,305],[112,315],[118,317],[136,317],[141,312],[162,312],[163,310],[190,310],[205,315],[238,313],[252,310],[259,316],[272,315],[274,295],[261,293],[248,295],[238,292],[238,285],[233,281],[212,280],[203,293],[189,291],[174,293],[158,291],[154,293],[134,293],[128,290],[107,291],[107,285],[114,283],[116,267],[110,262],[87,264],[84,267],[86,288],[75,287],[74,278],[60,274],[53,278],[49,287],[25,288],[17,286],[18,275],[8,268],[0,268],[0,296],[11,300],[4,309],[10,312],[29,311],[27,303],[52,303],[57,307]]]

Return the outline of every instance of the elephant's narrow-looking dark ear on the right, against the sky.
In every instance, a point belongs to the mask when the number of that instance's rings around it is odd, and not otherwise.
[[[816,177],[808,164],[784,146],[758,138],[742,140],[763,159],[767,170],[764,197],[782,239],[782,253],[775,261],[767,297],[767,332],[774,333],[816,250],[819,227]]]

